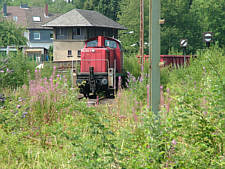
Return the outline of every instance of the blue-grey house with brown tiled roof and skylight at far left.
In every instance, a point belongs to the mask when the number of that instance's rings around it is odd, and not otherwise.
[[[55,19],[58,15],[48,13],[48,5],[41,7],[7,6],[3,5],[3,18],[14,21],[18,26],[26,29],[27,47],[24,52],[29,56],[47,55],[53,44],[53,29],[42,27],[43,24]],[[45,58],[46,59],[46,58]]]

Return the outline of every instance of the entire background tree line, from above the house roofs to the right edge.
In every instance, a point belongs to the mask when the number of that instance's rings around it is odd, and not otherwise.
[[[65,13],[71,9],[96,10],[118,21],[134,31],[134,34],[120,33],[119,39],[123,42],[126,51],[138,52],[139,43],[139,1],[137,0],[73,0],[66,3],[64,0],[2,0],[9,5],[28,3],[30,6],[44,6],[49,4],[50,12]],[[149,0],[145,0],[145,42],[149,41]],[[188,39],[188,53],[196,53],[204,47],[203,32],[213,32],[214,42],[224,46],[225,37],[225,0],[161,0],[161,18],[166,20],[161,25],[161,53],[181,51],[180,39]],[[136,44],[134,46],[133,44]],[[133,45],[131,47],[131,45]],[[146,54],[148,46],[145,48]]]

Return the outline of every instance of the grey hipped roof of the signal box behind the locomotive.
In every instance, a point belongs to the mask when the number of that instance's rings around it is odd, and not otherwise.
[[[46,27],[104,27],[125,30],[112,19],[92,10],[73,9],[46,23]]]

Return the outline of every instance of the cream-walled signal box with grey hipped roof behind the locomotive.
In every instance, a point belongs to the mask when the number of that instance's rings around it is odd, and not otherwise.
[[[43,25],[54,30],[53,61],[80,60],[85,41],[99,35],[118,36],[126,29],[106,16],[90,10],[73,9]]]

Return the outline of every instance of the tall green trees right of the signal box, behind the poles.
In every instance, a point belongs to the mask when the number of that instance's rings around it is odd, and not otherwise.
[[[147,1],[148,2],[148,1]],[[148,5],[145,1],[145,24],[148,24]],[[139,1],[121,0],[119,22],[128,30],[134,30],[135,35],[121,33],[120,40],[124,48],[133,52],[130,46],[139,42]],[[203,32],[214,33],[214,41],[220,46],[225,43],[225,0],[161,0],[161,18],[166,23],[161,26],[161,53],[167,54],[171,50],[182,50],[180,39],[188,39],[188,52],[195,53],[204,47]],[[145,42],[148,41],[148,25],[145,26]],[[133,47],[135,48],[135,47]],[[138,51],[136,46],[135,51]]]

